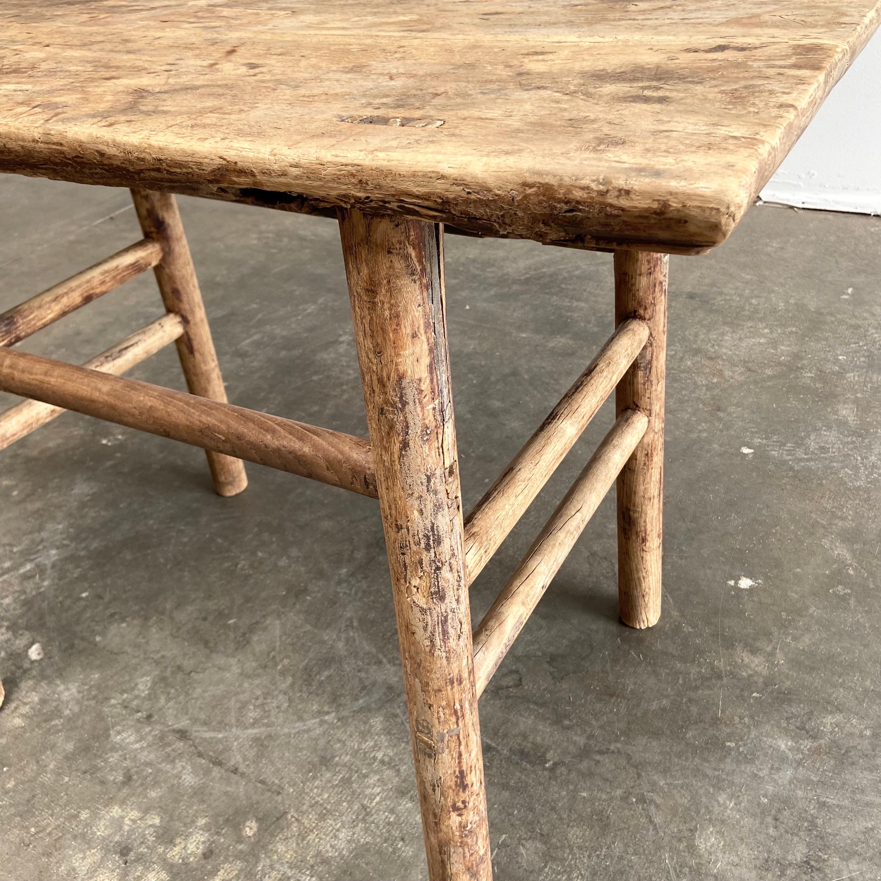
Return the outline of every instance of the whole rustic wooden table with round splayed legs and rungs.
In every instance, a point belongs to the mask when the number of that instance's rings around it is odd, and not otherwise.
[[[378,498],[432,881],[489,879],[478,697],[618,486],[621,618],[661,611],[667,256],[729,235],[875,0],[4,0],[0,171],[129,187],[144,238],[0,315],[0,446],[64,409]],[[339,218],[370,439],[226,403],[174,193]],[[614,252],[615,332],[463,521],[443,233]],[[12,345],[153,269],[165,315],[72,366]],[[191,394],[123,379],[175,342]],[[468,587],[618,418],[471,633]]]

